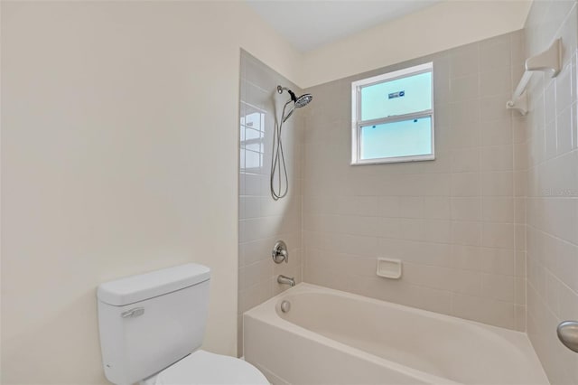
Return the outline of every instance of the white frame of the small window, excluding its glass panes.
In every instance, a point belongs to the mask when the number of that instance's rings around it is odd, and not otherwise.
[[[377,119],[360,120],[361,118],[361,89],[369,86],[374,86],[379,83],[387,81],[399,80],[408,78],[410,76],[419,75],[421,73],[432,73],[432,108],[416,111],[410,114],[394,115],[389,117],[379,117]],[[387,163],[404,163],[404,162],[421,162],[435,159],[435,143],[434,143],[434,118],[433,118],[433,61],[419,64],[413,67],[408,67],[403,70],[395,70],[387,72],[371,78],[357,80],[351,82],[351,165],[361,164],[387,164]],[[407,156],[391,156],[385,158],[374,159],[360,159],[361,155],[361,127],[377,126],[387,123],[395,123],[404,120],[418,119],[422,117],[430,117],[432,122],[431,139],[432,139],[432,154],[426,155],[407,155]]]

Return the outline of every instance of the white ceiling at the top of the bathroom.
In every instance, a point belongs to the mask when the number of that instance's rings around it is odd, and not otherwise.
[[[246,0],[303,52],[340,40],[440,0]]]

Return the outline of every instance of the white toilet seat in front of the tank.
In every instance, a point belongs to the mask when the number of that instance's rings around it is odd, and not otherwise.
[[[157,374],[155,385],[265,385],[265,375],[238,358],[196,351]]]

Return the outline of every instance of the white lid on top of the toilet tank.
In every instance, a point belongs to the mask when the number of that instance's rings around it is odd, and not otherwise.
[[[99,301],[108,305],[129,305],[199,284],[209,278],[210,268],[188,263],[100,284],[97,296]]]

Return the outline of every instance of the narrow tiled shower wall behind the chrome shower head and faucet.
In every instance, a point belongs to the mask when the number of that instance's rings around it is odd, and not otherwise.
[[[284,274],[301,282],[301,158],[304,108],[283,126],[283,147],[289,192],[275,202],[269,192],[275,111],[280,116],[288,99],[277,85],[302,91],[263,62],[241,52],[239,132],[239,251],[238,251],[238,355],[242,355],[242,315],[275,296],[287,286],[277,284]],[[289,263],[275,265],[271,250],[283,239]]]

